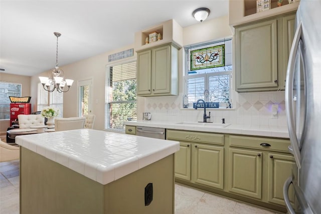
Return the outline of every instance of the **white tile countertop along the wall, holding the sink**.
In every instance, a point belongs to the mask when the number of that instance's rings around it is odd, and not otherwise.
[[[198,125],[187,125],[187,124],[177,124],[177,123],[179,122],[138,120],[138,121],[126,121],[125,125],[289,138],[288,130],[286,127],[246,126],[246,125],[230,124],[225,128],[220,128],[220,127],[210,127],[210,126],[203,126],[203,125],[198,126]]]

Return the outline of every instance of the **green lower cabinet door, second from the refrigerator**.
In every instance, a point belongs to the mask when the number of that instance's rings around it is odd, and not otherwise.
[[[262,198],[262,152],[229,149],[228,190]]]

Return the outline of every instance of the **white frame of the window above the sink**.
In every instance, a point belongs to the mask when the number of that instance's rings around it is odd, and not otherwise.
[[[211,72],[211,73],[204,73],[204,74],[193,74],[193,75],[189,75],[188,72],[192,71],[190,70],[190,61],[189,59],[191,58],[191,55],[189,54],[189,49],[193,50],[194,48],[206,48],[206,47],[210,47],[210,46],[216,46],[217,43],[221,43],[221,42],[225,42],[225,41],[231,41],[231,46],[232,46],[232,56],[231,56],[231,65],[225,65],[225,66],[231,66],[232,70],[230,71],[221,71],[221,72]],[[191,51],[190,51],[191,52]],[[232,37],[226,37],[223,39],[217,39],[217,40],[212,40],[212,41],[207,41],[207,42],[202,42],[202,43],[197,43],[197,44],[193,44],[193,45],[188,45],[185,46],[185,71],[183,72],[183,90],[184,93],[183,95],[187,95],[188,96],[188,80],[189,79],[196,79],[196,78],[204,78],[204,91],[205,90],[209,90],[209,79],[210,77],[215,77],[215,76],[225,76],[225,75],[229,75],[229,103],[226,102],[220,102],[220,107],[218,109],[226,109],[226,108],[232,108],[231,104],[232,104],[232,96],[233,96],[233,84],[232,84],[232,80],[233,80],[233,38]],[[225,59],[226,60],[226,59]],[[213,68],[215,69],[215,67]],[[205,96],[203,94],[203,98],[205,102],[209,102],[209,96]],[[196,102],[196,101],[193,101]],[[215,101],[213,101],[215,102]],[[182,106],[183,108],[183,106]],[[183,108],[183,109],[193,109],[193,104],[191,105],[191,103],[189,102],[189,105],[187,108]],[[214,108],[215,109],[215,108]],[[214,110],[213,109],[213,110]]]

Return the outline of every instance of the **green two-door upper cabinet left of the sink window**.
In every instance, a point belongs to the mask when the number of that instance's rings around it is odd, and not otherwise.
[[[137,96],[168,96],[179,93],[179,52],[173,44],[137,53]]]

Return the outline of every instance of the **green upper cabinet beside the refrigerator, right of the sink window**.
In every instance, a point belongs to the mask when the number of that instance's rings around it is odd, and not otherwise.
[[[294,14],[235,27],[236,91],[284,89]]]

